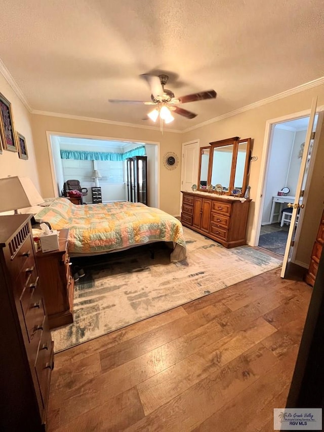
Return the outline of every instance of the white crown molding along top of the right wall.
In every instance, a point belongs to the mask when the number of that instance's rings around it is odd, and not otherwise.
[[[302,84],[301,86],[294,87],[293,89],[286,90],[285,92],[278,93],[274,96],[270,96],[266,99],[259,100],[257,102],[251,103],[250,105],[242,106],[241,108],[235,109],[234,111],[226,112],[225,114],[219,115],[218,117],[214,117],[214,119],[207,120],[206,122],[199,123],[198,125],[192,126],[190,128],[184,129],[182,132],[190,132],[194,129],[201,128],[203,126],[210,125],[215,122],[219,122],[220,120],[227,119],[228,117],[232,117],[233,115],[240,114],[241,112],[249,111],[250,109],[258,108],[259,106],[266,105],[267,103],[275,102],[276,100],[283,99],[287,96],[294,95],[296,93],[303,92],[304,90],[311,89],[313,87],[317,87],[324,84],[324,76],[317,78],[317,80],[309,81],[308,83]]]

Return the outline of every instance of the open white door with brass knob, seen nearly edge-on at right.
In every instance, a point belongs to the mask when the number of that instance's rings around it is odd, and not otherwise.
[[[298,209],[300,209],[300,212],[301,212],[302,209],[304,208],[304,204],[301,203],[303,200],[301,197],[302,186],[303,186],[303,179],[304,179],[304,175],[305,175],[305,168],[306,168],[306,163],[307,163],[307,158],[308,158],[308,153],[309,153],[310,141],[312,139],[314,119],[315,119],[315,114],[316,114],[316,105],[317,105],[317,98],[314,98],[312,101],[312,107],[311,107],[311,111],[310,111],[308,129],[307,129],[306,139],[305,139],[304,152],[303,152],[303,156],[302,156],[302,161],[301,161],[301,166],[300,166],[300,171],[299,171],[299,176],[298,176],[298,181],[297,181],[297,186],[296,186],[295,202],[294,202],[294,204],[291,204],[291,205],[288,204],[288,207],[293,207],[293,213],[292,213],[292,218],[291,218],[290,227],[289,227],[289,231],[288,231],[288,239],[287,239],[287,244],[286,244],[286,249],[285,249],[284,261],[282,262],[282,267],[281,267],[281,273],[280,273],[281,278],[285,278],[287,263],[289,260],[290,248],[291,248],[291,244],[292,244],[293,234],[295,231],[295,224],[296,224]]]

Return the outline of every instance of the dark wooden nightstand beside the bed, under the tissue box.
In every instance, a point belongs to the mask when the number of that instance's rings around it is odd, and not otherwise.
[[[73,323],[74,279],[68,253],[68,228],[59,232],[59,250],[36,252],[36,263],[50,329]]]

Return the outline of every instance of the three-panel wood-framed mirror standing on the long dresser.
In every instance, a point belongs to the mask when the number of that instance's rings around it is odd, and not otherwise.
[[[228,138],[200,148],[198,190],[210,189],[223,194],[243,197],[247,188],[251,138]],[[208,166],[208,167],[207,167]],[[209,187],[208,187],[209,186]]]

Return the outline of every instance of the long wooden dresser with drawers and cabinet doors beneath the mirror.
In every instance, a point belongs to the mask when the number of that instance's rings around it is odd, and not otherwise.
[[[245,245],[249,206],[214,193],[183,192],[181,223],[226,248]]]

